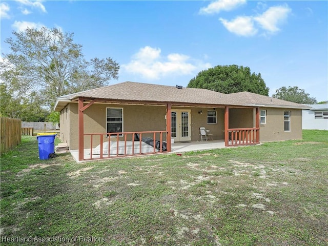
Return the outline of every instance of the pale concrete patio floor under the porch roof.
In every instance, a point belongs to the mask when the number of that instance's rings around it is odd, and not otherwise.
[[[219,149],[219,148],[226,148],[224,146],[224,140],[212,140],[212,141],[190,141],[190,142],[174,142],[172,144],[172,151],[169,153],[183,153],[183,152],[189,152],[189,151],[199,151],[199,150],[213,150],[213,149]],[[104,160],[104,159],[92,159],[92,160],[78,160],[78,150],[70,150],[72,157],[76,162],[85,162],[85,161],[95,161],[95,160]],[[90,158],[90,149],[85,149],[85,159]],[[169,154],[168,152],[163,152],[162,154]],[[150,154],[151,155],[151,154]],[[126,157],[135,157],[140,155],[131,155]],[[145,156],[145,155],[142,155]],[[112,157],[112,158],[126,158],[124,157]],[[112,159],[109,158],[109,159]],[[108,158],[106,158],[108,159]]]

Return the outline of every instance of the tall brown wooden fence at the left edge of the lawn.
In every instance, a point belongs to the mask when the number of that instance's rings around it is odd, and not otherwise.
[[[22,120],[0,117],[0,155],[11,150],[22,141]]]

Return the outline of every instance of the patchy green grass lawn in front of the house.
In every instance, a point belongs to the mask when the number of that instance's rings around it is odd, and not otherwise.
[[[79,164],[23,136],[1,157],[1,245],[328,245],[327,159],[328,131]]]

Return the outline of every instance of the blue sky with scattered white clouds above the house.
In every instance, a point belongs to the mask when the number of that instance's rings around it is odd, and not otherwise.
[[[26,27],[73,32],[86,59],[111,57],[119,79],[187,86],[217,65],[261,73],[270,96],[298,86],[328,99],[327,1],[1,1],[4,40]]]

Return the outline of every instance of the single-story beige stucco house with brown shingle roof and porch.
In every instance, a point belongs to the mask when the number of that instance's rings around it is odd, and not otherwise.
[[[153,139],[152,153],[162,152],[163,142],[170,152],[171,138],[198,141],[200,127],[214,140],[224,139],[225,146],[301,139],[302,109],[309,107],[251,92],[222,94],[130,81],[60,96],[54,107],[60,112],[60,138],[78,150],[79,160],[86,159],[86,149],[88,159],[109,158],[113,149],[116,156],[142,154],[142,137]]]

